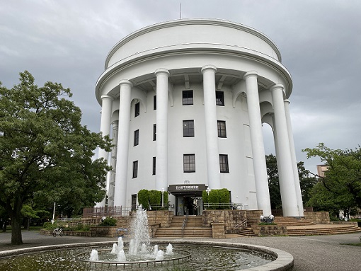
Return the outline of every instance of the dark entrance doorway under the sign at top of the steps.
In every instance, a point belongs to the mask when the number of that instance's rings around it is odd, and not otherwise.
[[[196,196],[176,196],[176,215],[200,216],[203,212],[202,197]]]

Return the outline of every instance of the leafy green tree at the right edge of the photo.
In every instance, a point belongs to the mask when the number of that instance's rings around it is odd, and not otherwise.
[[[312,191],[309,204],[333,213],[342,209],[346,215],[355,207],[361,208],[360,146],[354,150],[333,150],[320,143],[302,151],[307,158],[319,157],[328,166],[325,176],[320,176],[320,184]]]

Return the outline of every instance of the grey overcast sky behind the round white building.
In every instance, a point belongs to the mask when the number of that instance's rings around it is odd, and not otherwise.
[[[181,15],[242,23],[275,42],[292,74],[294,144],[307,169],[316,173],[320,161],[307,160],[304,148],[361,144],[360,0],[0,0],[0,81],[11,88],[28,70],[38,86],[62,83],[83,124],[98,132],[95,83],[110,49],[139,28]],[[275,154],[270,127],[264,132],[266,154]]]

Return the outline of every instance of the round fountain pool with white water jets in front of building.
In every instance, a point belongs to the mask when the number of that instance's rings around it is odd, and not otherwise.
[[[68,244],[62,246],[63,250],[31,254],[32,260],[26,254],[28,250],[26,252],[16,250],[16,253],[23,255],[9,258],[6,262],[1,260],[0,271],[8,270],[10,265],[29,266],[33,270],[81,271],[103,270],[105,267],[107,270],[118,270],[119,267],[131,268],[132,270],[156,267],[156,270],[166,271],[169,270],[167,265],[179,265],[181,270],[202,271],[217,270],[217,268],[222,270],[224,268],[227,270],[246,268],[251,268],[251,270],[280,270],[278,269],[280,266],[284,267],[282,270],[288,270],[293,265],[292,255],[282,250],[239,243],[178,240],[176,241],[176,249],[173,249],[171,243],[159,240],[158,244],[150,246],[147,212],[141,207],[137,209],[137,215],[132,221],[132,230],[129,242],[123,243],[120,237],[118,243],[104,242],[101,245],[88,243],[87,246],[97,246],[97,249],[91,250],[90,255],[84,244]],[[166,246],[167,244],[168,246]],[[108,248],[103,249],[101,246]],[[46,248],[33,248],[33,251],[41,251],[40,249],[45,250]],[[191,257],[194,260],[190,261]],[[42,263],[41,267],[38,266],[40,263]],[[18,268],[18,270],[23,269]]]

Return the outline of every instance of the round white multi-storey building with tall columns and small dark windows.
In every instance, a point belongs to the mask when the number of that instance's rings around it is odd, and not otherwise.
[[[273,129],[285,216],[303,216],[290,122],[292,78],[272,40],[239,23],[181,19],[118,42],[96,83],[101,132],[113,137],[108,206],[164,190],[176,215],[227,188],[271,214],[262,125]],[[98,206],[105,201],[98,203]]]

